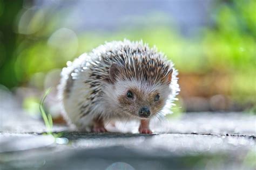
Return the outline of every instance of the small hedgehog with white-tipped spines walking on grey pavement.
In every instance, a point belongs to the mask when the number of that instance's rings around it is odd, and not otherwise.
[[[179,93],[178,71],[143,41],[112,41],[63,68],[58,95],[64,118],[77,130],[107,132],[107,122],[136,120],[152,133],[153,117],[171,113]]]

